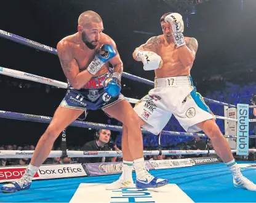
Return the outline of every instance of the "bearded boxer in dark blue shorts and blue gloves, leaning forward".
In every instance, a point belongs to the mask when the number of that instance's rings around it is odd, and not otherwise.
[[[88,10],[79,16],[78,32],[58,42],[58,57],[68,79],[66,96],[39,139],[25,174],[2,186],[2,192],[14,193],[30,188],[34,174],[46,160],[60,132],[84,111],[97,109],[121,121],[128,130],[127,142],[133,161],[124,161],[124,164],[128,166],[134,162],[137,188],[157,188],[168,183],[166,179],[153,177],[145,169],[140,118],[120,94],[122,61],[114,40],[102,31],[102,18]]]

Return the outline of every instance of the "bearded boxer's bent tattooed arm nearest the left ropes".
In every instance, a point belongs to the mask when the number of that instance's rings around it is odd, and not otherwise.
[[[58,42],[57,51],[66,78],[73,88],[78,90],[81,89],[82,86],[89,82],[93,75],[87,70],[79,72],[79,66],[76,59],[74,59],[73,47],[71,47],[70,42],[67,42],[66,40]]]

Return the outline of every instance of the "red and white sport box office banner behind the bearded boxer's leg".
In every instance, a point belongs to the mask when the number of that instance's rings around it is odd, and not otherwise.
[[[0,168],[0,183],[10,182],[21,178],[25,173],[26,166],[1,167]],[[81,164],[56,164],[42,165],[38,172],[34,175],[34,179],[52,179],[52,178],[68,178],[68,177],[83,177],[86,172]]]

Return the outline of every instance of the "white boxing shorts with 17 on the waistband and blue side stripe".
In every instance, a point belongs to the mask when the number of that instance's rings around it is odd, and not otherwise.
[[[134,110],[146,122],[142,128],[156,135],[172,114],[186,132],[201,131],[197,123],[215,118],[189,76],[155,79],[154,88],[135,104]]]

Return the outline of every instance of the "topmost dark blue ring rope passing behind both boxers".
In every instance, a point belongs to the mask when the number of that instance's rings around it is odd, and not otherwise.
[[[0,37],[4,37],[6,39],[17,42],[18,44],[26,45],[28,47],[32,47],[32,48],[35,48],[37,50],[41,50],[43,52],[49,52],[49,53],[52,53],[54,55],[58,55],[57,49],[55,49],[55,48],[49,47],[47,45],[40,44],[39,42],[34,42],[33,40],[26,39],[24,37],[20,37],[20,36],[17,36],[15,34],[12,34],[12,33],[8,33],[8,32],[3,31],[1,29],[0,29]],[[142,77],[138,77],[136,75],[128,74],[127,72],[123,72],[122,76],[126,77],[127,79],[136,80],[138,82],[146,83],[148,85],[154,85],[153,81],[143,79]],[[209,101],[209,102],[212,102],[212,103],[215,103],[215,104],[221,104],[221,105],[226,105],[228,107],[236,108],[236,105],[227,104],[225,102],[215,101],[213,99],[208,99],[208,98],[204,98],[204,99],[206,101]],[[254,106],[249,106],[249,107],[252,108]]]

